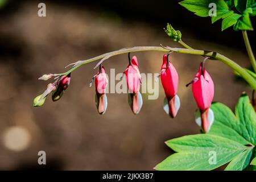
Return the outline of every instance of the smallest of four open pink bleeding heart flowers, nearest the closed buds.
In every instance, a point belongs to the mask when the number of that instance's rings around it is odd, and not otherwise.
[[[95,77],[95,104],[99,114],[104,114],[108,107],[108,100],[106,97],[106,87],[108,86],[108,77],[106,76],[105,68],[101,67]]]

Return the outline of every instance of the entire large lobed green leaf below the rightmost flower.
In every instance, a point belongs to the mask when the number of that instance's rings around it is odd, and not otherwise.
[[[256,113],[249,97],[242,94],[236,115],[221,103],[213,103],[210,109],[214,123],[209,133],[168,140],[167,146],[177,153],[155,169],[211,170],[230,162],[225,170],[256,170],[256,166],[249,165],[256,157]],[[213,156],[216,160],[212,160]]]

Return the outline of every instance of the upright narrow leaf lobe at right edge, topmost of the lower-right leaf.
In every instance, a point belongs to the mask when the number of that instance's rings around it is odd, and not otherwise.
[[[256,113],[247,94],[243,93],[235,110],[240,125],[237,131],[240,135],[252,144],[256,144]]]

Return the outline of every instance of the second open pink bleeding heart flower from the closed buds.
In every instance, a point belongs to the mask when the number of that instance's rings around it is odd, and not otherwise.
[[[129,89],[129,105],[133,113],[138,114],[143,104],[141,93],[139,93],[139,89],[141,87],[141,73],[139,72],[139,64],[137,61],[137,57],[133,56],[133,58],[130,60],[130,53],[129,65],[124,73],[126,77],[127,86]]]

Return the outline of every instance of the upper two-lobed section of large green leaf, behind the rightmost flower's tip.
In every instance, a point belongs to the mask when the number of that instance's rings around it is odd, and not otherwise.
[[[236,106],[236,116],[221,103],[210,107],[214,113],[214,122],[209,134],[229,138],[242,144],[256,144],[256,113],[249,97],[243,93]]]

